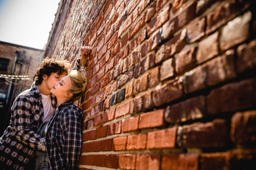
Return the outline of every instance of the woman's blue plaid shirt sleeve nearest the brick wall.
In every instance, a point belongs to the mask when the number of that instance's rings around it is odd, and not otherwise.
[[[81,121],[74,110],[68,110],[61,124],[64,136],[63,153],[66,157],[67,166],[68,169],[76,169],[82,147]]]

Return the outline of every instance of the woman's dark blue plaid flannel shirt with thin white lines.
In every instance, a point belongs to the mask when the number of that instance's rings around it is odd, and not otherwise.
[[[48,123],[46,148],[50,169],[78,168],[82,147],[83,112],[73,102],[60,104]]]

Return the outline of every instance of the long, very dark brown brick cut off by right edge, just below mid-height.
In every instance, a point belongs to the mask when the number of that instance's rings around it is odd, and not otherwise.
[[[212,90],[207,96],[207,113],[213,115],[254,107],[255,87],[256,78],[251,78]]]

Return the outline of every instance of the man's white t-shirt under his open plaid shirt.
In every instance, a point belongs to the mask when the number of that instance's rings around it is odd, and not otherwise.
[[[43,95],[41,93],[41,96],[42,96],[42,103],[43,103],[43,110],[44,110],[43,122],[45,122],[47,120],[50,120],[50,118],[53,116],[54,110],[50,100],[50,95]]]

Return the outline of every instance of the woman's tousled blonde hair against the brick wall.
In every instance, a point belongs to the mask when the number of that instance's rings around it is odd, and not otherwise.
[[[71,86],[68,92],[73,94],[71,100],[79,100],[85,94],[87,78],[85,68],[80,68],[79,70],[71,70],[68,74],[71,79]]]

